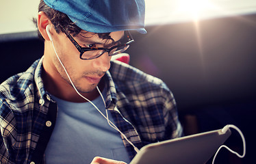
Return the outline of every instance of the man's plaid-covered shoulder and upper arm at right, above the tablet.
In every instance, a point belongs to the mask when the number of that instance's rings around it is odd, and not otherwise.
[[[117,108],[138,129],[143,140],[162,141],[176,134],[177,106],[166,83],[127,64],[113,62]]]

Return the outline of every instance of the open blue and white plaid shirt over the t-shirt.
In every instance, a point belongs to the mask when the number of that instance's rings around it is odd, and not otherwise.
[[[0,85],[2,164],[45,162],[57,105],[42,83],[42,59]],[[182,135],[175,100],[161,80],[120,61],[112,61],[103,78],[107,109],[137,148]],[[132,159],[136,152],[125,139],[123,143]]]

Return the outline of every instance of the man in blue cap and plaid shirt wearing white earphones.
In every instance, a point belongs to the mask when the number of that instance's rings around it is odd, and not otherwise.
[[[0,87],[1,163],[129,163],[181,136],[168,87],[111,61],[146,33],[144,1],[44,0],[37,27],[43,57]]]

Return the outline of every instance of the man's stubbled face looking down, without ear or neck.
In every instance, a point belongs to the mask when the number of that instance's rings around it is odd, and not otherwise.
[[[110,33],[114,42],[120,40],[124,36],[124,31],[116,31]],[[113,42],[112,40],[103,40],[97,34],[87,31],[81,31],[79,35],[74,37],[77,43],[82,47],[106,47]],[[60,57],[68,75],[71,77],[75,87],[81,93],[92,92],[101,81],[105,72],[110,68],[110,59],[108,53],[104,53],[100,57],[91,60],[82,60],[79,58],[74,44],[69,40],[64,33],[57,34],[53,38],[53,44],[57,55]],[[55,70],[55,75],[61,77],[60,83],[68,83],[71,85],[64,68],[57,59],[54,51],[51,53],[52,68]],[[54,77],[53,77],[54,78]]]

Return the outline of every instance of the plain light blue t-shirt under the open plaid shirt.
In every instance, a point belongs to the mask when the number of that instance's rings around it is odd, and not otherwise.
[[[105,92],[103,92],[105,95]],[[57,102],[57,120],[47,146],[46,163],[91,163],[95,156],[130,162],[120,133],[114,130],[90,102]],[[101,96],[92,101],[105,114]],[[108,113],[114,123],[112,115]]]

